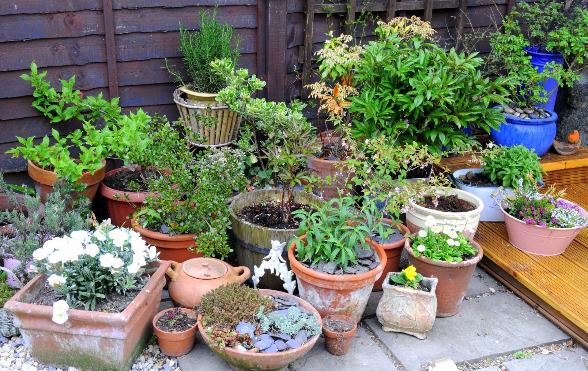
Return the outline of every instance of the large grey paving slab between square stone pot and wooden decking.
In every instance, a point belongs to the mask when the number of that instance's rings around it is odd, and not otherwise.
[[[562,330],[514,294],[500,293],[469,299],[455,316],[435,319],[426,340],[397,332],[384,332],[376,318],[366,321],[406,371],[436,359],[453,362],[485,359],[522,348],[569,339]]]

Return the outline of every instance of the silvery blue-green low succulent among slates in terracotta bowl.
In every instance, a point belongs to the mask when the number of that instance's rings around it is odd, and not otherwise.
[[[314,336],[320,333],[320,326],[316,313],[308,315],[302,313],[296,306],[288,308],[288,315],[279,315],[275,312],[265,314],[265,308],[259,308],[258,320],[264,333],[285,333],[295,336],[300,330],[305,330],[306,336]]]

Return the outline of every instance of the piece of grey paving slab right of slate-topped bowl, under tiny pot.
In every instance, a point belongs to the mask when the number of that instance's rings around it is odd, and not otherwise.
[[[315,346],[304,357],[297,360],[293,366],[289,366],[288,370],[396,371],[397,368],[392,363],[392,360],[369,337],[368,333],[361,326],[358,326],[358,331],[353,337],[351,348],[346,355],[333,356],[325,347],[325,339],[320,336]]]

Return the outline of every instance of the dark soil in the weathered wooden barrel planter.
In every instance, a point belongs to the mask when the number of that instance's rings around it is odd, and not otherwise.
[[[286,213],[288,212],[285,208]],[[292,211],[306,210],[310,211],[309,205],[298,203],[292,204]],[[243,207],[237,214],[239,218],[250,222],[251,224],[261,225],[267,228],[276,228],[279,230],[292,230],[298,228],[299,221],[292,220],[284,222],[282,205],[279,201],[265,200]]]

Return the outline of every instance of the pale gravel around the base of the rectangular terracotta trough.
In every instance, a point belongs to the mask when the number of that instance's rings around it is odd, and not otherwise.
[[[1,371],[79,371],[76,367],[59,369],[36,362],[26,349],[22,336],[12,336],[10,339],[0,337],[0,345]],[[145,347],[141,356],[133,364],[132,370],[181,371],[176,357],[163,355],[156,343]]]

